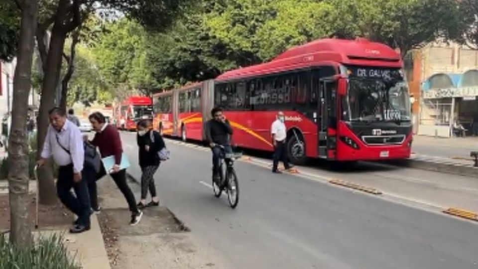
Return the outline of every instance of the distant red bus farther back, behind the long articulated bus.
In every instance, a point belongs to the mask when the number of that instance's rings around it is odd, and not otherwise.
[[[134,131],[141,119],[153,119],[151,98],[131,96],[115,108],[116,126],[121,130]]]

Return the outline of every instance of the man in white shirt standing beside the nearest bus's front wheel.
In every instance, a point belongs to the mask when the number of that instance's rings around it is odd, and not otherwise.
[[[279,160],[284,163],[285,169],[292,168],[289,162],[287,161],[287,128],[285,127],[285,117],[284,113],[277,113],[277,120],[272,123],[271,134],[272,134],[272,143],[274,145],[274,161],[272,164],[272,172],[280,174],[281,171],[277,169]]]

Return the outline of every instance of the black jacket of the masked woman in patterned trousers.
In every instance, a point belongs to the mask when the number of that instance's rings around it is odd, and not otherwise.
[[[154,143],[151,141],[151,132],[154,137]],[[136,135],[136,141],[139,147],[139,166],[154,166],[161,162],[158,156],[158,151],[165,147],[163,137],[155,131],[149,131],[143,136]],[[149,145],[149,151],[146,151],[145,146]]]

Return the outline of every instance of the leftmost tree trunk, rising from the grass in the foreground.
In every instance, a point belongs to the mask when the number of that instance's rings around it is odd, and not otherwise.
[[[27,248],[33,242],[29,222],[28,142],[25,131],[37,19],[38,1],[23,1],[17,66],[13,78],[11,132],[8,142],[10,241],[20,248]]]

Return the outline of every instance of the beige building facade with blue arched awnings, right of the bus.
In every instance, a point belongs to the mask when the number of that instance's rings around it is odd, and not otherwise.
[[[415,134],[450,137],[455,122],[467,135],[478,127],[478,51],[454,43],[431,43],[405,59],[415,99]]]

